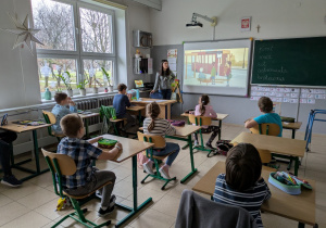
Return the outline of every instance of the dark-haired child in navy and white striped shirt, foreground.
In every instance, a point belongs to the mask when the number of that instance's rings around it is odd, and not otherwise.
[[[263,227],[260,210],[269,200],[271,191],[261,173],[262,161],[252,144],[234,147],[226,159],[226,174],[220,174],[216,179],[214,201],[246,208],[258,227]]]

